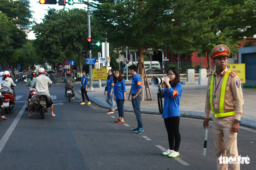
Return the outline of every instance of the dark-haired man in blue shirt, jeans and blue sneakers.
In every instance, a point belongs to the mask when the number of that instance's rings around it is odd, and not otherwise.
[[[129,66],[129,73],[133,75],[133,82],[132,82],[132,87],[131,87],[131,94],[132,94],[132,104],[133,104],[133,109],[134,113],[137,118],[138,122],[138,127],[133,129],[133,131],[138,131],[137,134],[141,134],[143,130],[143,125],[142,125],[142,117],[141,117],[141,112],[140,112],[140,104],[141,104],[141,99],[142,99],[142,81],[140,76],[136,73],[137,71],[137,66],[131,65]]]

